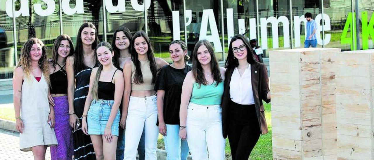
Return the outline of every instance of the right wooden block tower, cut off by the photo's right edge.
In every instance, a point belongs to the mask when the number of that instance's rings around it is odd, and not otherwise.
[[[337,53],[337,150],[341,160],[374,159],[374,49]]]

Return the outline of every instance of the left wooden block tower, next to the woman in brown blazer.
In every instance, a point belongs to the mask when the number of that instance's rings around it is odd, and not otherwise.
[[[270,52],[273,159],[337,159],[338,52],[336,48]]]

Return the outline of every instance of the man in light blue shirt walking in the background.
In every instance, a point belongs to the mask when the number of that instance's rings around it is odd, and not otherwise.
[[[308,48],[309,46],[317,47],[317,38],[316,38],[316,29],[317,24],[312,19],[312,13],[305,13],[306,22],[306,37],[304,41],[304,47]]]

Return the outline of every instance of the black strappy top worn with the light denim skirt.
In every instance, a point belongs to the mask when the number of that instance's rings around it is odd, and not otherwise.
[[[116,71],[114,71],[114,74],[116,74]],[[97,96],[99,99],[114,100],[115,84],[112,83],[114,74],[110,82],[99,81],[97,86]]]

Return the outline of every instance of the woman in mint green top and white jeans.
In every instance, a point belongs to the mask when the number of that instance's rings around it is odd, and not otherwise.
[[[225,68],[218,67],[211,43],[198,41],[192,53],[192,71],[183,82],[180,107],[179,135],[181,139],[187,138],[192,159],[225,157],[221,124],[224,74]]]

